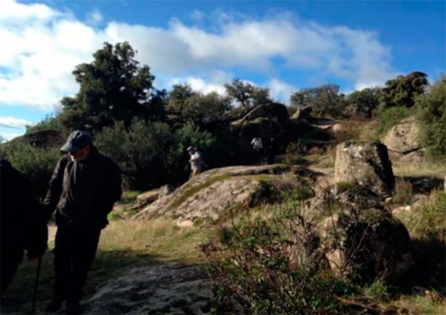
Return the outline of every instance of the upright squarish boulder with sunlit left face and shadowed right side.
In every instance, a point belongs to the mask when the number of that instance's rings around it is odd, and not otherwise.
[[[387,147],[381,142],[343,142],[336,146],[335,182],[358,182],[379,195],[393,188]]]

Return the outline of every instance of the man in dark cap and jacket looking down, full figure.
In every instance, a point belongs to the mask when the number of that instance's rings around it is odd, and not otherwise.
[[[54,297],[47,306],[56,312],[67,302],[67,314],[80,314],[79,302],[96,256],[107,215],[121,197],[118,165],[100,153],[83,131],[69,135],[49,182],[44,204],[48,218],[56,210]]]

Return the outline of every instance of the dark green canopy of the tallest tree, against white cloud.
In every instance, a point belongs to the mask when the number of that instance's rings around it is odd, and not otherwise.
[[[156,120],[164,115],[165,91],[154,89],[155,76],[147,65],[139,65],[135,54],[127,42],[104,43],[91,63],[76,66],[72,73],[80,89],[60,101],[66,128],[96,131],[115,121],[129,126],[134,116]]]

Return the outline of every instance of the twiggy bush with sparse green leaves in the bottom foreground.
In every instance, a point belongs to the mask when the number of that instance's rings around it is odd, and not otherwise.
[[[296,218],[292,212],[282,210],[271,221],[242,217],[239,224],[221,231],[223,244],[213,240],[202,246],[215,283],[217,313],[345,312],[338,297],[349,294],[352,287],[324,268],[324,255],[318,251],[296,258],[294,253],[305,252],[302,244],[313,244],[314,238],[305,225],[292,220]],[[288,228],[303,230],[296,238]]]

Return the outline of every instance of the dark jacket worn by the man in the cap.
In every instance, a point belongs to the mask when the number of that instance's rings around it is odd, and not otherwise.
[[[44,204],[56,209],[56,224],[104,228],[113,204],[121,198],[118,165],[94,146],[87,159],[73,162],[68,154],[58,161]]]

